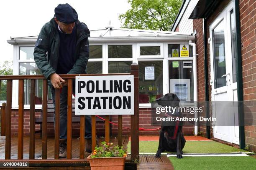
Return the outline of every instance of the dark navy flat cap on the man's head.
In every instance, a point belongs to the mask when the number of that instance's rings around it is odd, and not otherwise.
[[[55,17],[62,23],[74,23],[78,19],[77,11],[68,3],[59,4],[54,9]]]

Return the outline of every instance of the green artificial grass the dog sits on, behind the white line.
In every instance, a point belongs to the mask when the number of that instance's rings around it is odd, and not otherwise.
[[[158,141],[140,141],[139,152],[140,153],[156,153],[158,148]],[[128,153],[131,152],[131,142],[127,145]],[[247,152],[234,148],[215,141],[186,141],[183,153],[233,153],[233,152]],[[170,152],[164,152],[170,153]]]

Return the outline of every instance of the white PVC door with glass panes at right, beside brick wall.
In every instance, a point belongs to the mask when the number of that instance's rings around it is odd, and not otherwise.
[[[234,125],[213,126],[213,136],[220,140],[239,144],[238,111],[235,103],[225,108],[224,101],[237,101],[236,53],[234,51],[234,13],[233,2],[210,25],[210,57],[212,116],[219,121],[234,122]],[[223,101],[223,102],[219,102]],[[230,103],[230,102],[229,102]],[[233,103],[233,102],[231,102]],[[227,110],[227,112],[223,112]],[[229,123],[230,124],[230,123]],[[237,123],[236,123],[237,125]]]

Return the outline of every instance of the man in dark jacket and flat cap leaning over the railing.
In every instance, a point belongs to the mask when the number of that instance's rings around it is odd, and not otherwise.
[[[60,147],[59,157],[67,155],[67,81],[59,74],[85,74],[89,58],[90,31],[78,20],[77,12],[69,4],[59,4],[54,18],[41,29],[36,41],[34,59],[42,74],[48,79],[55,105],[55,88],[60,94]],[[46,54],[47,52],[47,54]],[[73,85],[73,93],[75,85]],[[54,113],[55,122],[55,113]],[[91,117],[85,117],[86,152],[92,150]]]

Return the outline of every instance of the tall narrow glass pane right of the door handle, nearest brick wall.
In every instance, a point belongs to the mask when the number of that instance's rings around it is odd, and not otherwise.
[[[233,71],[233,83],[236,82],[236,34],[235,34],[235,24],[234,24],[234,12],[230,11],[230,25],[231,25],[231,47],[232,47],[232,71]]]

